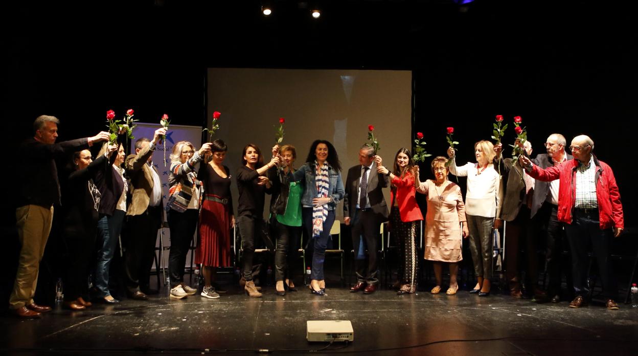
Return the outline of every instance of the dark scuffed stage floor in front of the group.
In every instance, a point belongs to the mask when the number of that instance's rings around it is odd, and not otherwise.
[[[636,355],[638,310],[602,304],[579,310],[505,295],[480,298],[419,292],[372,295],[329,288],[325,297],[306,288],[285,297],[265,288],[249,298],[239,287],[220,299],[199,294],[170,299],[162,290],[149,301],[96,304],[85,311],[57,310],[38,320],[3,317],[2,353],[114,354],[147,352],[254,353],[270,349],[317,350],[306,341],[306,320],[351,320],[355,341],[323,352],[375,355]],[[334,350],[332,350],[334,349]],[[634,350],[632,352],[632,350]],[[323,353],[322,352],[322,353]]]

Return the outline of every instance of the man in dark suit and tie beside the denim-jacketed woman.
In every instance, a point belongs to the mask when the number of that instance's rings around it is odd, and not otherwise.
[[[363,290],[365,294],[374,293],[378,285],[379,231],[389,216],[382,189],[390,186],[390,179],[377,174],[375,155],[372,146],[361,146],[360,165],[348,169],[343,199],[344,222],[352,225],[352,247],[357,271],[357,284],[350,288],[350,292]],[[360,243],[364,241],[368,254],[367,268],[365,260],[357,259]]]

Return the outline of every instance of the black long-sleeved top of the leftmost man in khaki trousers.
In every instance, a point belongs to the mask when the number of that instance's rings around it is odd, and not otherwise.
[[[89,148],[87,138],[47,145],[33,138],[20,145],[23,154],[22,174],[18,180],[17,207],[39,205],[50,208],[60,204],[60,183],[57,180],[56,158],[65,153]]]

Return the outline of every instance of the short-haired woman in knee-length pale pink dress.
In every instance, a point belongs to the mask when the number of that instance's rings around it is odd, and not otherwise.
[[[432,160],[434,180],[415,182],[417,192],[427,196],[426,214],[426,260],[434,263],[436,286],[432,294],[441,291],[441,274],[443,262],[450,265],[450,287],[445,294],[453,295],[459,289],[456,276],[459,271],[458,262],[463,260],[461,253],[461,236],[466,238],[470,232],[465,218],[463,195],[458,185],[447,180],[450,173],[445,166],[447,158],[436,157]],[[417,174],[418,176],[418,174]]]

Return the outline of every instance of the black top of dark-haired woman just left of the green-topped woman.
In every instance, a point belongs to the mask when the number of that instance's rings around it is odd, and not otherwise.
[[[246,166],[237,169],[237,190],[239,200],[237,202],[237,216],[252,215],[263,217],[263,203],[265,193],[271,194],[272,189],[265,185],[257,185],[259,174],[256,170]]]

